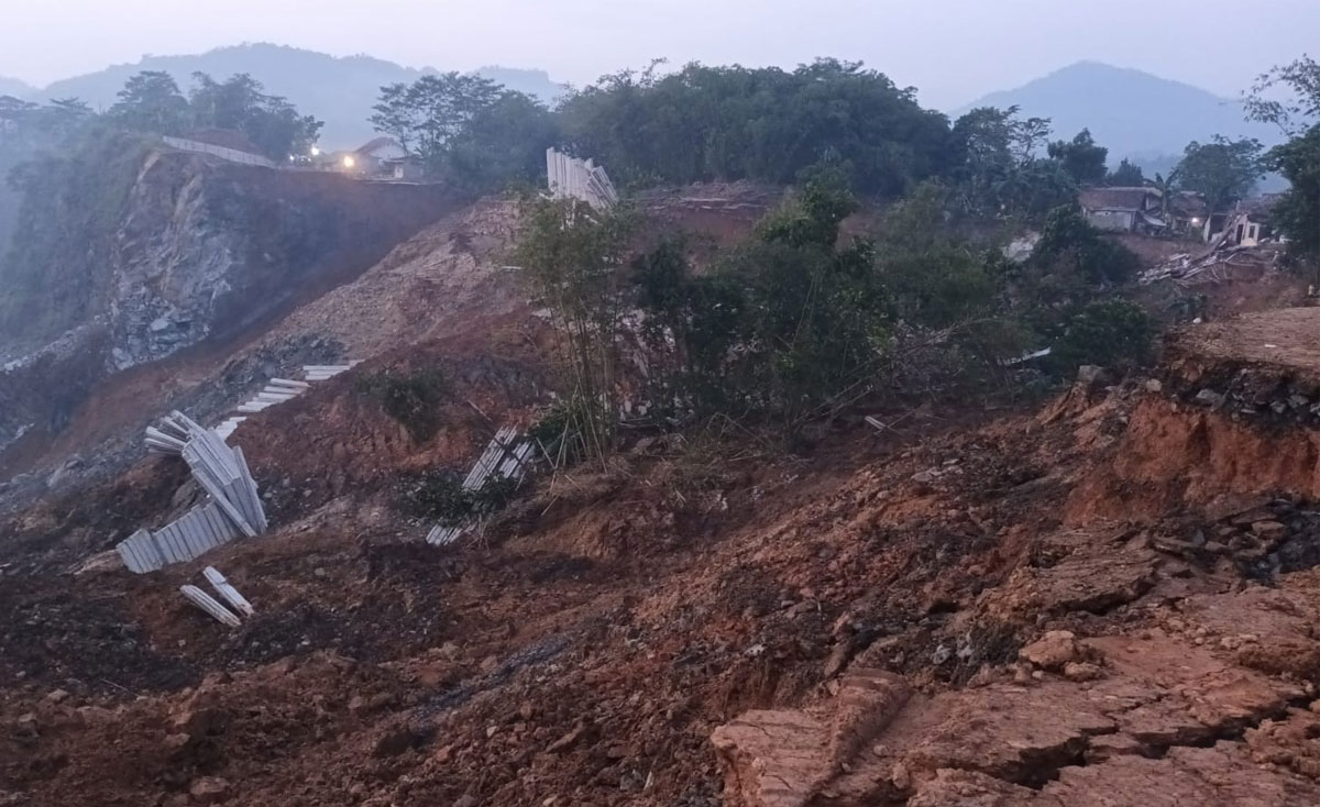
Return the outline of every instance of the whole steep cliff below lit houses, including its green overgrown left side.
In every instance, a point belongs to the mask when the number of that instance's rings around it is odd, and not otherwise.
[[[117,148],[29,194],[0,264],[0,451],[58,434],[120,371],[228,353],[455,207],[438,186]]]

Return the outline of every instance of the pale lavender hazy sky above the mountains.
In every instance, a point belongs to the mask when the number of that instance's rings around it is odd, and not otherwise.
[[[244,41],[576,84],[652,57],[836,55],[950,108],[1080,59],[1237,95],[1317,34],[1320,0],[0,0],[0,75],[42,86]]]

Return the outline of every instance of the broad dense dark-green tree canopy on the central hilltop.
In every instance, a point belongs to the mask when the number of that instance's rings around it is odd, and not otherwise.
[[[939,171],[948,119],[859,63],[793,71],[688,65],[623,71],[564,102],[565,145],[623,182],[760,179],[789,183],[826,154],[859,191],[899,195]]]

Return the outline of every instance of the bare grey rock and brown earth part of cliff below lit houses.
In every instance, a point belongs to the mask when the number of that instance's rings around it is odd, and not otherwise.
[[[152,153],[111,251],[114,365],[236,334],[350,280],[447,207],[434,187]]]

